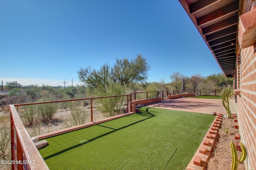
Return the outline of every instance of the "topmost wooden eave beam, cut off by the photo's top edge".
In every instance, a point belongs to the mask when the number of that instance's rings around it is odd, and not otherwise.
[[[198,0],[198,1],[194,2],[193,4],[190,4],[190,6],[189,6],[190,13],[194,14],[212,4],[215,4],[218,1],[220,1],[220,0]]]

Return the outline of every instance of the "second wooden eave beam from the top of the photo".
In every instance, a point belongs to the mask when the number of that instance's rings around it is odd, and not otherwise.
[[[226,16],[227,14],[230,14],[232,12],[236,12],[239,10],[239,1],[233,2],[227,6],[224,6],[218,10],[215,10],[214,12],[210,12],[209,14],[206,14],[205,16],[202,16],[197,19],[197,24],[203,25],[205,23],[208,23],[210,21],[216,20],[217,18]]]

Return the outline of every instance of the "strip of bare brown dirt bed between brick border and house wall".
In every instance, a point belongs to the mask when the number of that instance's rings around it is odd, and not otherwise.
[[[224,127],[229,128],[229,133],[226,134]],[[235,133],[239,133],[238,129],[234,128],[234,119],[223,118],[218,136],[216,138],[210,159],[206,163],[205,170],[230,170],[232,164],[232,155],[230,150],[230,141],[240,142],[235,139]],[[238,155],[241,152],[237,150]],[[245,170],[244,162],[238,164],[238,170]]]

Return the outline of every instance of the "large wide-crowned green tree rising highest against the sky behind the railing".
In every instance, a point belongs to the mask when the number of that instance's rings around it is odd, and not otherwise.
[[[148,78],[148,70],[150,69],[146,59],[138,55],[135,60],[116,59],[114,66],[104,64],[100,70],[80,68],[78,70],[78,78],[81,82],[90,88],[99,86],[110,86],[111,83],[121,85],[130,84],[132,82],[145,82]]]

